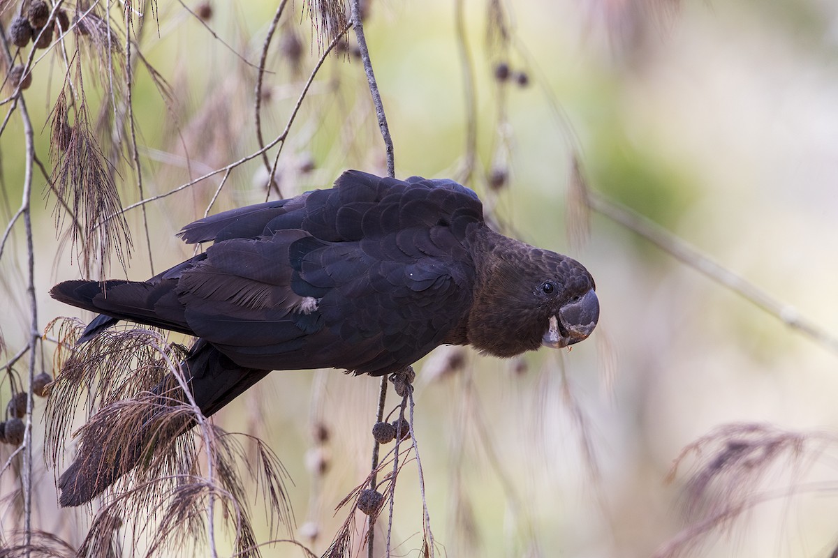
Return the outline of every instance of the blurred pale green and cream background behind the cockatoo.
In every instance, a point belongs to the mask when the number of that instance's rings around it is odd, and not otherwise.
[[[318,35],[303,4],[283,17],[269,49],[261,99],[267,140],[284,129],[318,58]],[[185,5],[198,13],[204,3]],[[505,43],[492,6],[507,17]],[[159,23],[150,9],[144,14],[142,53],[171,86],[165,100],[147,71],[137,70],[133,102],[146,197],[257,149],[256,69],[242,58],[258,64],[276,3],[211,7],[203,22],[180,3],[158,3]],[[414,427],[438,550],[835,555],[836,350],[784,320],[801,316],[838,334],[838,4],[378,0],[367,8],[396,175],[465,181],[513,235],[582,261],[597,280],[603,312],[592,339],[572,352],[542,350],[509,362],[468,351],[462,369],[441,373],[452,356],[442,349],[416,366]],[[3,3],[4,23],[16,9]],[[122,8],[111,9],[118,20]],[[347,54],[326,60],[303,101],[278,160],[284,196],[328,187],[346,168],[385,171],[353,48],[354,39]],[[38,57],[23,95],[37,152],[48,164],[46,123],[65,66],[54,54]],[[504,81],[499,64],[510,69]],[[88,100],[98,110],[107,98],[96,71],[87,71]],[[476,126],[473,168],[469,115]],[[0,136],[4,223],[22,192],[22,137],[13,115]],[[587,235],[568,234],[574,157],[592,192],[658,223],[787,310],[757,308],[597,212],[589,212]],[[116,156],[123,206],[141,199],[129,158]],[[211,211],[263,200],[266,178],[258,158],[236,167]],[[40,330],[55,316],[75,315],[47,293],[81,274],[65,233],[56,235],[55,199],[45,184],[36,174]],[[125,269],[114,260],[107,275],[145,279],[191,255],[173,234],[203,216],[219,184],[220,175],[147,204],[148,242],[142,213],[127,212],[132,257]],[[13,229],[9,242],[0,260],[0,330],[13,355],[28,329],[22,229]],[[53,347],[44,342],[48,371]],[[377,387],[374,379],[337,371],[275,372],[216,419],[265,438],[282,458],[294,482],[291,535],[316,553],[343,521],[334,506],[369,472]],[[0,401],[9,389],[7,381]],[[43,404],[36,405],[37,455],[44,429]],[[732,427],[733,438],[714,435],[716,446],[701,446],[667,481],[688,444],[742,422],[772,425],[777,440],[795,442],[776,458],[771,452],[779,446],[755,443],[750,461],[733,459],[744,477],[725,477],[720,456],[731,458],[726,451],[752,440]],[[328,440],[318,443],[313,429],[320,426]],[[12,451],[0,448],[0,460]],[[55,472],[39,458],[34,464],[34,524],[78,545],[89,511],[57,511]],[[722,474],[696,497],[696,479],[708,470]],[[0,477],[3,494],[18,483],[10,471]],[[732,494],[738,499],[726,500]],[[742,506],[713,515],[719,501]],[[13,508],[0,514],[5,540],[21,528]],[[415,554],[421,531],[416,469],[408,466],[396,492],[396,552]],[[277,545],[263,554],[300,550]]]

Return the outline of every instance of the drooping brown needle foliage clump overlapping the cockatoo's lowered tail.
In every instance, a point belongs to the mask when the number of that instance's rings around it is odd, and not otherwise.
[[[75,434],[83,451],[71,467],[95,472],[84,477],[103,488],[117,479],[85,540],[90,555],[108,548],[111,517],[149,518],[132,523],[130,535],[135,544],[146,538],[149,553],[184,550],[185,541],[199,540],[209,528],[207,509],[215,502],[237,555],[257,556],[253,517],[245,505],[250,484],[264,495],[263,516],[272,534],[280,525],[292,528],[287,471],[277,456],[250,438],[253,458],[239,435],[196,417],[184,396],[185,383],[177,378],[182,371],[172,364],[184,358],[184,347],[164,343],[151,330],[106,330],[70,349],[80,324],[65,320],[53,327],[60,373],[50,385],[45,453],[57,468],[73,411],[85,401],[92,416]],[[193,433],[199,422],[205,427]],[[209,463],[202,464],[199,456]],[[127,469],[131,472],[123,475]]]

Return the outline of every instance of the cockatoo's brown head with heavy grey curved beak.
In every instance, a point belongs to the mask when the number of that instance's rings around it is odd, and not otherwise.
[[[490,258],[474,297],[468,337],[479,350],[515,356],[585,340],[599,319],[591,274],[575,259],[519,243]]]

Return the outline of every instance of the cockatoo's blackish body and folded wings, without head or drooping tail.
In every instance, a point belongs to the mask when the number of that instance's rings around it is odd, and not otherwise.
[[[333,189],[187,225],[185,242],[214,244],[144,283],[108,282],[92,310],[199,336],[239,366],[385,374],[463,321],[475,273],[465,243],[482,223],[456,182],[348,171]]]

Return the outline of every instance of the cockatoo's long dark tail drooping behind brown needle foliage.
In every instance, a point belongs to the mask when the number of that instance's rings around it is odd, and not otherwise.
[[[195,343],[182,368],[205,417],[269,372],[236,366],[204,340]],[[137,465],[148,466],[160,448],[194,426],[194,416],[171,412],[178,402],[184,401],[178,382],[169,376],[143,401],[142,407],[116,403],[97,412],[81,433],[75,461],[59,479],[60,504],[85,504]],[[118,426],[124,426],[126,421],[130,421],[129,427]]]

